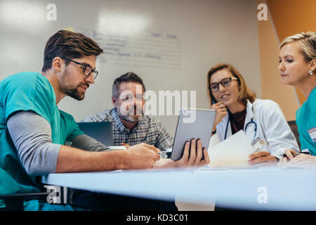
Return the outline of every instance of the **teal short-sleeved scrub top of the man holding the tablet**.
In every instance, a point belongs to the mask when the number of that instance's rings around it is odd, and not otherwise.
[[[30,110],[44,117],[51,124],[53,143],[64,145],[79,134],[72,115],[62,112],[56,105],[53,86],[48,79],[38,72],[20,72],[6,77],[0,82],[0,169],[3,178],[11,176],[11,186],[6,185],[6,193],[39,191],[35,176],[27,174],[18,158],[6,121],[8,117],[20,110]],[[1,174],[0,174],[1,175]],[[4,180],[0,185],[5,184]],[[1,188],[0,188],[1,191]],[[1,194],[1,192],[0,192]]]

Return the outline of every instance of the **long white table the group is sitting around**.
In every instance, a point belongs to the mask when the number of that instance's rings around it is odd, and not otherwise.
[[[316,170],[138,170],[48,174],[44,184],[251,210],[316,210]]]

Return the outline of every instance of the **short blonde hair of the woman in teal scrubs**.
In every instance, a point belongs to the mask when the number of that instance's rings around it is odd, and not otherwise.
[[[301,32],[298,34],[291,35],[286,37],[284,41],[279,46],[279,49],[288,43],[291,42],[298,42],[298,48],[300,49],[301,53],[303,54],[306,62],[309,62],[316,58],[316,33],[309,31],[309,32]]]

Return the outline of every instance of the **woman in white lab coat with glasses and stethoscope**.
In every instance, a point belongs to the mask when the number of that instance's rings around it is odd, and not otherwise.
[[[279,105],[256,98],[232,65],[215,65],[207,80],[211,108],[217,112],[212,134],[223,141],[242,129],[254,147],[250,165],[271,165],[282,158],[285,150],[299,151]]]

